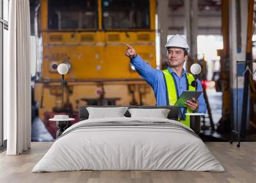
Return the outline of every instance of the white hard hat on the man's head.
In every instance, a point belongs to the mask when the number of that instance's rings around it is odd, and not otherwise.
[[[166,43],[165,47],[182,47],[189,52],[188,42],[182,35],[172,36]]]

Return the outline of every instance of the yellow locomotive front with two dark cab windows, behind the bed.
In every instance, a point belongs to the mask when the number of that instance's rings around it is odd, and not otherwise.
[[[60,63],[69,67],[65,103],[73,111],[99,99],[103,104],[154,105],[152,89],[124,51],[132,45],[156,68],[155,16],[156,0],[42,0],[42,68],[35,82],[40,117],[61,109]]]

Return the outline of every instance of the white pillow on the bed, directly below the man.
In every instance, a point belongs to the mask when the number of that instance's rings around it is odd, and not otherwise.
[[[131,113],[131,118],[167,118],[170,109],[128,109],[128,111]]]

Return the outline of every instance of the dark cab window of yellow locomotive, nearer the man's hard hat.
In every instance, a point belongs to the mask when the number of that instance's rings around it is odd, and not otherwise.
[[[102,0],[103,29],[149,29],[149,0]]]

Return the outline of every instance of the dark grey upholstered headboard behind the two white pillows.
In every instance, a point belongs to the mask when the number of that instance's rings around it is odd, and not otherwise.
[[[81,106],[79,107],[79,121],[87,120],[89,113],[86,110],[86,107],[120,107],[120,106]],[[170,109],[170,112],[168,113],[168,119],[170,120],[178,120],[179,116],[179,107],[175,106],[125,106],[129,108],[140,108],[140,109],[158,109],[158,108],[164,108],[164,109]],[[126,117],[131,117],[131,114],[127,110],[124,114]]]

